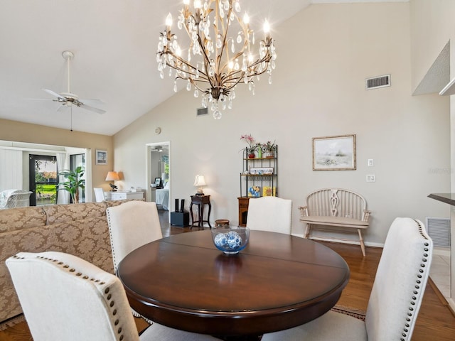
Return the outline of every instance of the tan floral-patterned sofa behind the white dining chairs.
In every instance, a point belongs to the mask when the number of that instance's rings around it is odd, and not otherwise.
[[[126,201],[0,210],[0,329],[22,313],[5,260],[19,251],[63,251],[113,273],[106,209]]]

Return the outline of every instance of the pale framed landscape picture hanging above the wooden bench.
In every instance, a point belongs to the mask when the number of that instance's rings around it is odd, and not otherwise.
[[[355,171],[355,134],[313,138],[313,171]]]

